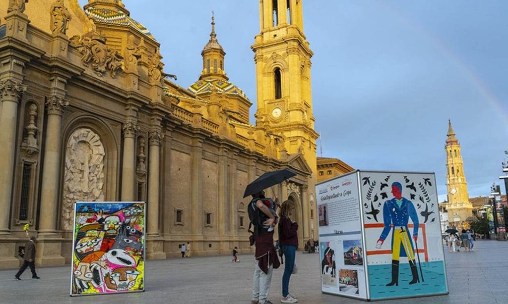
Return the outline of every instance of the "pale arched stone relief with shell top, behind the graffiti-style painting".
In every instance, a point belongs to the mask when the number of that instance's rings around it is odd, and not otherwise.
[[[80,128],[69,137],[61,208],[63,229],[72,229],[74,202],[104,200],[104,157],[101,138],[92,130]]]

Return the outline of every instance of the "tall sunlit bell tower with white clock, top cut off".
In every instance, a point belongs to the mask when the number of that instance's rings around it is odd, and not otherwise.
[[[256,124],[283,138],[289,154],[303,155],[313,170],[313,186],[318,135],[310,88],[313,53],[303,33],[302,2],[260,0],[261,32],[251,48],[256,54]]]

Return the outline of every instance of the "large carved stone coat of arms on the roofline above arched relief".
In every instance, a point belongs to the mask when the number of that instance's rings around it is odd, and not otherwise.
[[[77,48],[83,55],[81,57],[83,65],[88,66],[91,63],[93,71],[99,77],[109,71],[111,78],[115,78],[116,73],[122,70],[122,55],[106,46],[106,36],[103,34],[92,30],[81,37],[74,35],[70,40],[71,46]]]

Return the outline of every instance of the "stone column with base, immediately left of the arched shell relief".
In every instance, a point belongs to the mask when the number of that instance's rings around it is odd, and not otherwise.
[[[41,184],[41,211],[39,222],[39,243],[36,263],[39,265],[61,265],[62,239],[57,234],[57,210],[59,173],[61,159],[61,121],[63,109],[69,101],[61,95],[52,95],[46,100],[47,126],[44,146],[44,167]]]

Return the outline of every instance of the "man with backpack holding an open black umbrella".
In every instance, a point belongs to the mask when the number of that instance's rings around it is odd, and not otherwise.
[[[265,197],[264,189],[295,176],[296,173],[284,169],[266,172],[245,188],[243,197],[252,196],[248,204],[250,219],[250,245],[256,244],[255,269],[252,279],[251,304],[272,304],[268,300],[273,269],[280,266],[277,251],[273,245],[273,227],[276,224],[275,201]],[[250,227],[253,226],[253,231]]]

